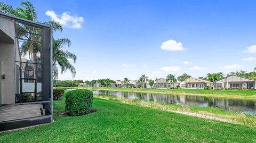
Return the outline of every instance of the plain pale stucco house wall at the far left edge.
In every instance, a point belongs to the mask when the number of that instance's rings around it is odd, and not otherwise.
[[[0,31],[0,61],[2,63],[2,72],[0,73],[0,104],[14,104],[14,23],[0,18]],[[5,74],[6,79],[2,79],[3,74]]]

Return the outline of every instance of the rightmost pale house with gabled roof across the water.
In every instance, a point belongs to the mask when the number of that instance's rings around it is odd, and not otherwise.
[[[238,75],[228,75],[225,78],[215,81],[214,88],[256,89],[255,82],[256,80]]]

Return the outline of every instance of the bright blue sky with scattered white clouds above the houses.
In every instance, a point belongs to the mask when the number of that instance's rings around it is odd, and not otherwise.
[[[39,21],[63,24],[54,38],[72,41],[65,49],[77,55],[75,79],[199,77],[256,66],[255,1],[30,2]]]

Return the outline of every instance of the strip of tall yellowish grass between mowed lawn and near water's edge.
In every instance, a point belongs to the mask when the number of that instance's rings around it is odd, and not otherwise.
[[[126,103],[126,104],[155,108],[163,111],[186,114],[190,116],[201,117],[204,119],[211,119],[211,120],[243,124],[243,125],[249,125],[251,127],[256,127],[255,115],[246,115],[244,113],[225,111],[222,108],[181,106],[178,104],[147,102],[146,100],[140,100],[140,99],[119,98],[119,97],[110,96],[110,95],[94,95],[94,97],[101,98],[101,99],[115,100],[115,101]]]

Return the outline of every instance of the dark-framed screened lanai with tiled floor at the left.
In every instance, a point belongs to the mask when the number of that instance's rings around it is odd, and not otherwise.
[[[51,27],[0,12],[0,131],[53,121]]]

